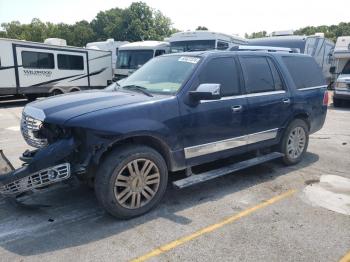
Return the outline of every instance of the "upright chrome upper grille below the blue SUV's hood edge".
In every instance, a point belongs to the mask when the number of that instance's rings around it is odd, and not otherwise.
[[[38,133],[42,122],[29,115],[22,114],[21,132],[28,145],[36,148],[47,146],[47,139],[39,138]]]

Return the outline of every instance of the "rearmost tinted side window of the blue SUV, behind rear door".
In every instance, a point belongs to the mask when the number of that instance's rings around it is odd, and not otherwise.
[[[312,57],[285,56],[283,61],[298,89],[326,85],[322,70]]]

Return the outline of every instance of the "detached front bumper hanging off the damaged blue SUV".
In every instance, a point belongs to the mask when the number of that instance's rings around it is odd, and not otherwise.
[[[62,139],[40,150],[26,152],[23,167],[14,169],[0,154],[0,194],[16,196],[71,177],[69,161],[77,145],[73,138]]]

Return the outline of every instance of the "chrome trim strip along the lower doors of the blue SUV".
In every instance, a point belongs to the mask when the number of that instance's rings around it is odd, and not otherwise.
[[[249,135],[229,138],[225,140],[220,140],[216,142],[211,142],[207,144],[197,145],[197,146],[191,146],[186,147],[184,149],[185,151],[185,158],[193,158],[197,156],[212,154],[220,151],[224,151],[227,149],[232,149],[248,144],[253,144],[269,139],[273,139],[277,136],[278,128],[269,129],[266,131],[253,133]]]

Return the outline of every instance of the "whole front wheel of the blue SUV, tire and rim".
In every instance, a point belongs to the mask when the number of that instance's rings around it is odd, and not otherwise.
[[[167,182],[167,166],[157,151],[147,146],[120,147],[99,167],[95,193],[108,213],[129,219],[155,207]]]

